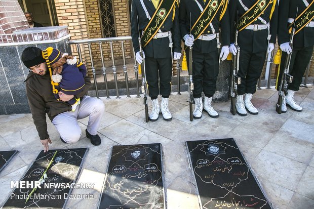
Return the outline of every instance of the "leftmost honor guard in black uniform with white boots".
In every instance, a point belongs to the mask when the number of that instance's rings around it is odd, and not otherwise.
[[[178,4],[177,0],[132,1],[132,43],[137,62],[142,63],[145,59],[148,95],[152,102],[151,121],[157,120],[160,112],[165,120],[172,119],[168,109],[172,58],[178,60],[181,57]],[[139,35],[143,58],[140,56]],[[159,94],[162,95],[161,107],[157,98]]]

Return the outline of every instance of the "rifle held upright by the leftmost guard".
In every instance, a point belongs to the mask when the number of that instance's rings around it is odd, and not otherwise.
[[[138,17],[137,17],[137,28],[138,28],[138,43],[140,46],[140,55],[143,58],[143,62],[141,63],[141,69],[142,69],[142,87],[141,87],[141,90],[143,93],[143,104],[145,106],[145,122],[148,122],[149,116],[148,116],[148,103],[147,103],[145,58],[143,56],[142,40],[141,40],[140,29],[139,29],[139,25],[138,25]]]

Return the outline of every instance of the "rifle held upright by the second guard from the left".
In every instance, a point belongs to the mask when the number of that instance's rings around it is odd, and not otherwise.
[[[190,34],[191,37],[191,13],[190,13]],[[189,47],[189,54],[188,54],[188,102],[189,102],[189,111],[190,111],[190,121],[193,121],[193,70],[192,70],[192,47]]]

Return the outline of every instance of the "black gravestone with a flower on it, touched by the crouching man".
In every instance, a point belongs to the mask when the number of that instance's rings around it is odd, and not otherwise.
[[[49,150],[46,153],[42,151],[20,181],[39,181],[55,151]],[[31,195],[29,194],[33,190],[32,188],[16,188],[3,208],[63,208],[67,199],[70,198],[71,187],[81,171],[87,151],[88,148],[57,150],[41,188],[37,188]],[[27,200],[28,197],[30,198]]]

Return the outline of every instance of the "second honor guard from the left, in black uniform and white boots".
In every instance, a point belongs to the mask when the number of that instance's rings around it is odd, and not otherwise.
[[[188,47],[192,47],[194,118],[202,117],[203,108],[210,117],[218,117],[212,106],[212,99],[216,91],[220,58],[225,60],[229,54],[230,26],[227,6],[227,0],[180,1],[180,31],[187,46],[185,49],[187,56]],[[222,43],[219,39],[219,29]],[[204,105],[202,92],[205,96]]]

